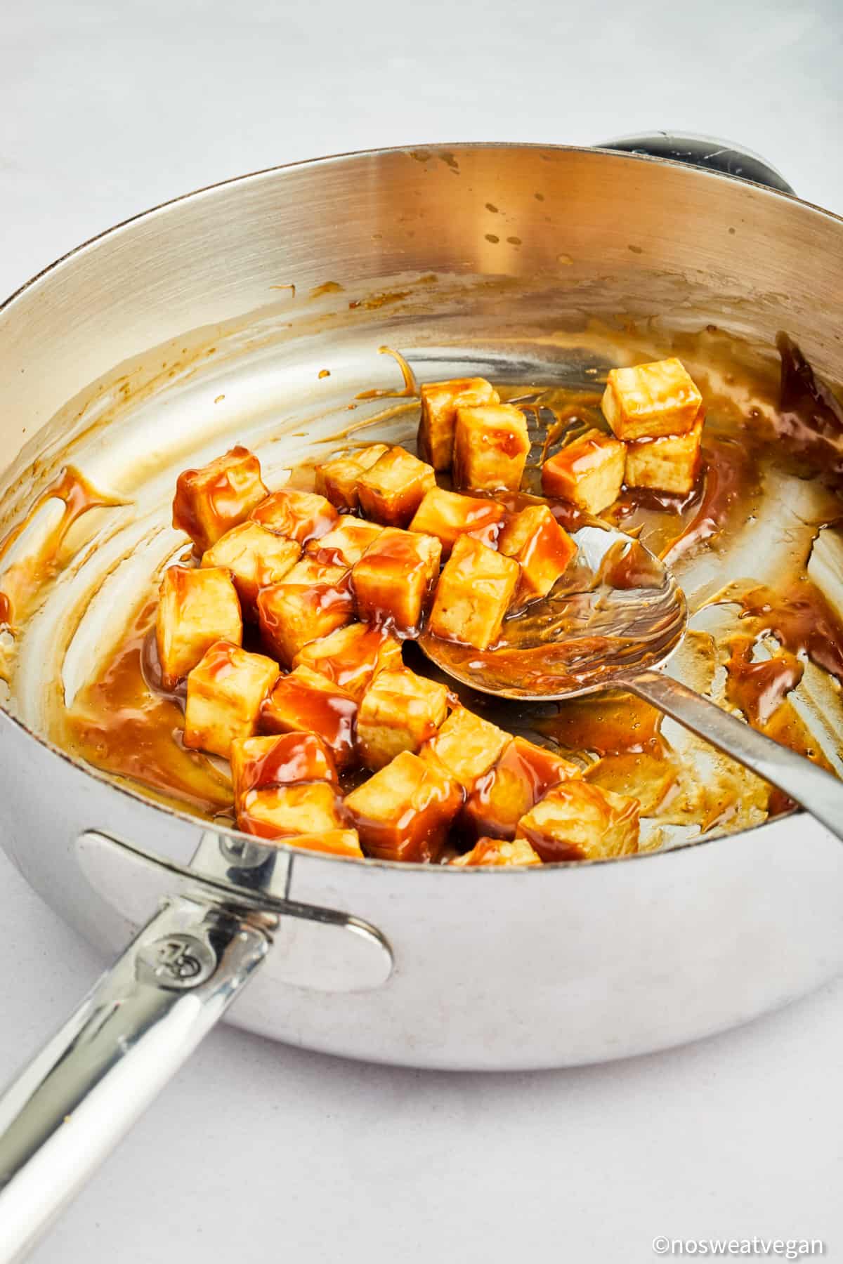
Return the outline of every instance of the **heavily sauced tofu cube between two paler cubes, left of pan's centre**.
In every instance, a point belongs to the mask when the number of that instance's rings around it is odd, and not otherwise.
[[[260,712],[260,728],[264,733],[318,733],[337,769],[344,769],[354,760],[356,713],[350,694],[302,665],[276,681]]]

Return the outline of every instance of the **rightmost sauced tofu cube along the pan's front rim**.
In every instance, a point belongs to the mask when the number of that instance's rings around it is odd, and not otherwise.
[[[542,861],[600,861],[638,851],[638,800],[586,781],[549,790],[518,822]]]

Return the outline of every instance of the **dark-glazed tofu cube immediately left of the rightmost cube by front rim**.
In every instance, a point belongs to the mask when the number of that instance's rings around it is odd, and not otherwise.
[[[514,838],[518,822],[551,786],[579,777],[561,756],[513,737],[498,762],[470,791],[460,818],[469,838]]]

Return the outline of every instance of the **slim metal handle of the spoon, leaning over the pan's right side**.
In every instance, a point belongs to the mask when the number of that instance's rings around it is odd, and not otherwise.
[[[717,703],[661,671],[640,671],[628,676],[624,685],[691,733],[784,790],[843,841],[843,782],[830,772],[765,737]]]

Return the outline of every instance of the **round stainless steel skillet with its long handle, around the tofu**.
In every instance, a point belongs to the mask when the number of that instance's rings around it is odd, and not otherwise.
[[[0,714],[4,846],[104,949],[144,928],[0,1103],[6,1259],[235,999],[233,1021],[308,1048],[523,1068],[704,1035],[840,968],[843,856],[804,817],[618,865],[466,877],[258,848],[42,734],[45,681],[58,671],[72,693],[125,611],[120,559],[140,551],[152,570],[173,545],[154,527],[173,470],[234,437],[282,466],[359,391],[393,384],[378,345],[427,377],[542,378],[564,362],[574,380],[598,319],[607,354],[621,315],[651,321],[655,341],[714,322],[770,348],[786,327],[834,380],[842,258],[842,222],[786,193],[646,157],[469,145],[192,195],[3,308],[4,530],[68,463],[119,502],[68,533],[67,570],[21,640]],[[392,408],[380,425],[399,432],[403,406],[345,416]]]

